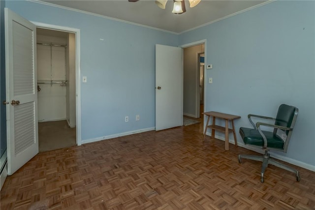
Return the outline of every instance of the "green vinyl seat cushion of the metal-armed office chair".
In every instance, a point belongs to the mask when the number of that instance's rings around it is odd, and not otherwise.
[[[284,141],[270,131],[262,131],[267,139],[267,147],[275,149],[284,149]],[[258,130],[253,128],[241,127],[241,137],[246,145],[264,146],[264,140]]]

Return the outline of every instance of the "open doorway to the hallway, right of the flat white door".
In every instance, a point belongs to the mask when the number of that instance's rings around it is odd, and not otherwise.
[[[184,48],[184,120],[203,122],[203,78],[204,43]]]

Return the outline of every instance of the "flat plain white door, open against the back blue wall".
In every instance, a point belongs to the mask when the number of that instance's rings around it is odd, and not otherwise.
[[[183,49],[156,45],[156,130],[183,125]]]

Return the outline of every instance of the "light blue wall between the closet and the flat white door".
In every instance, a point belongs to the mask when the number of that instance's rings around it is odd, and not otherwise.
[[[155,44],[178,46],[178,35],[29,1],[6,6],[30,21],[80,29],[83,141],[155,127]]]

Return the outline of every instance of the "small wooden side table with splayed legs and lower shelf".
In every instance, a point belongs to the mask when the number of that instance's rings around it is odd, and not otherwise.
[[[236,133],[235,133],[235,127],[234,127],[234,121],[235,119],[239,119],[241,118],[241,116],[237,116],[237,115],[229,115],[229,114],[224,114],[224,113],[220,113],[220,112],[204,112],[202,113],[206,116],[208,116],[207,119],[207,124],[206,124],[206,128],[205,128],[205,133],[203,134],[203,140],[205,140],[205,136],[207,133],[207,129],[211,128],[211,138],[215,138],[215,131],[221,131],[225,133],[225,150],[229,150],[228,149],[228,134],[229,132],[233,132],[234,135],[234,142],[235,142],[235,146],[237,147],[237,140],[236,140]],[[212,124],[209,125],[209,120],[210,117],[212,117]],[[225,120],[225,127],[216,125],[216,118],[220,118]],[[232,129],[228,128],[228,121],[231,120],[232,122]]]

